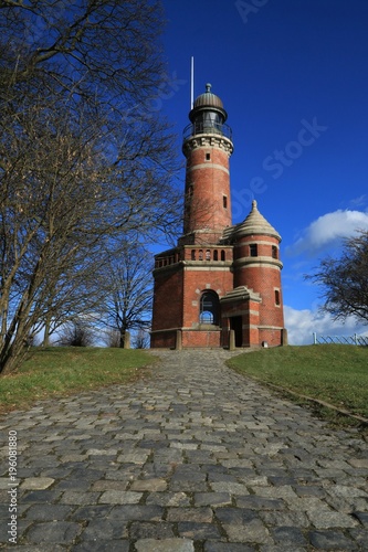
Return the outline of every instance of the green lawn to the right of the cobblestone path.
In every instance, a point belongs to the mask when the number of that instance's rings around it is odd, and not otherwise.
[[[262,349],[234,357],[228,364],[262,382],[368,418],[368,348],[326,344]],[[335,425],[357,425],[330,408],[315,405],[315,410]]]

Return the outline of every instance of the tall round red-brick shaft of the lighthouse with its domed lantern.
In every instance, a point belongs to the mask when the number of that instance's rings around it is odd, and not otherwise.
[[[187,158],[186,212],[181,243],[215,244],[231,225],[229,158],[233,151],[228,114],[206,85],[183,132]]]

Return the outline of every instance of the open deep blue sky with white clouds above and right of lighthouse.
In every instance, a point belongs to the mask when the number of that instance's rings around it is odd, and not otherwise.
[[[361,333],[317,311],[305,282],[341,236],[368,229],[367,0],[164,0],[170,93],[161,108],[178,134],[207,82],[233,129],[233,223],[257,200],[281,233],[291,342]],[[183,174],[182,174],[183,184]]]

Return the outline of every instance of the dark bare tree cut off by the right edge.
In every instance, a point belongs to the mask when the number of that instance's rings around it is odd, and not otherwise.
[[[306,278],[323,287],[322,310],[335,320],[355,316],[368,323],[368,231],[345,240],[340,257],[323,259]]]

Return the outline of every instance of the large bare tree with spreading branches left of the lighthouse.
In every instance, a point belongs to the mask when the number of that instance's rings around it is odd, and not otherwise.
[[[176,229],[178,194],[150,105],[159,2],[0,0],[0,15],[2,372],[28,336],[96,308],[122,234]]]

